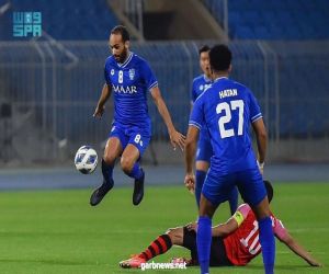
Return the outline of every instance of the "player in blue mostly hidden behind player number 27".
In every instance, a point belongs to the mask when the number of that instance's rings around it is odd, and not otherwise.
[[[198,49],[200,68],[203,73],[193,79],[191,92],[191,105],[195,100],[212,85],[212,72],[209,67],[209,46],[204,45]],[[213,156],[213,147],[209,134],[206,127],[202,127],[197,142],[195,156],[195,199],[197,207],[200,206],[201,190],[209,168],[211,158]],[[238,207],[238,190],[237,187],[228,196],[230,213],[234,214]]]

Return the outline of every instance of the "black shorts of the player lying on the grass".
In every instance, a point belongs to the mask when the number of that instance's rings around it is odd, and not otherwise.
[[[183,247],[191,251],[193,262],[197,262],[196,232],[184,227]],[[223,238],[213,237],[211,247],[211,266],[230,266]]]

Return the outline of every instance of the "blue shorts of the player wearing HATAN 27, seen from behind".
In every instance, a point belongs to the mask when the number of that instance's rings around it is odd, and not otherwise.
[[[238,186],[242,199],[250,206],[258,205],[265,196],[266,189],[258,168],[220,174],[209,169],[202,187],[202,194],[214,206],[227,201],[234,187]]]

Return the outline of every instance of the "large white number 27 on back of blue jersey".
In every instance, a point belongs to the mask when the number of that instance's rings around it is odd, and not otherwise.
[[[220,114],[224,112],[224,115],[218,119],[219,133],[222,139],[235,136],[234,128],[225,128],[225,124],[231,121],[231,112],[238,110],[239,111],[239,123],[238,123],[238,135],[243,134],[243,101],[242,100],[234,100],[228,102],[223,102],[217,104],[216,113]]]

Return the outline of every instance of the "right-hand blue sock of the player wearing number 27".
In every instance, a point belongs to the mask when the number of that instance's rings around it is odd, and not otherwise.
[[[270,217],[266,217],[259,220],[258,224],[259,240],[262,246],[262,256],[265,274],[273,274],[275,261],[275,240],[272,229],[272,220]]]

